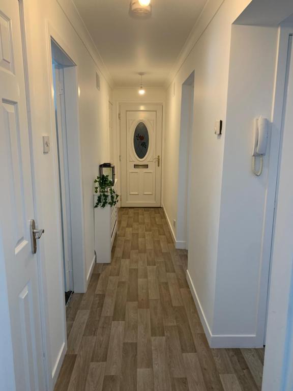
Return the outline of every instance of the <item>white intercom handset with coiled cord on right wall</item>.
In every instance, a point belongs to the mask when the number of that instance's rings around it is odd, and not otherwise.
[[[269,121],[267,118],[256,118],[254,120],[254,141],[252,147],[252,172],[259,177],[262,173],[263,155],[267,152],[269,136]],[[256,157],[259,156],[259,170],[256,171]]]

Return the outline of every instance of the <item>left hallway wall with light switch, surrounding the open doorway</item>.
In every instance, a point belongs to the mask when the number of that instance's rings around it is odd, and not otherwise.
[[[45,268],[49,366],[52,376],[58,371],[66,349],[64,292],[58,213],[58,193],[54,119],[51,111],[51,65],[49,31],[60,38],[61,46],[77,65],[81,173],[84,218],[85,275],[94,259],[93,180],[98,165],[108,160],[108,97],[111,89],[103,76],[106,70],[93,43],[68,0],[24,0],[30,76],[31,115],[37,222],[45,229],[41,239],[41,263]],[[62,7],[61,7],[62,6]],[[65,14],[65,11],[67,15]],[[98,68],[99,67],[99,68]],[[101,90],[96,89],[96,72],[101,76]],[[50,135],[51,150],[42,153],[42,135]]]

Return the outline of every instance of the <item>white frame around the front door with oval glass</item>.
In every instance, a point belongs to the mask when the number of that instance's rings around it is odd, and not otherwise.
[[[128,103],[128,102],[120,102],[118,104],[118,119],[119,119],[119,126],[118,126],[118,130],[119,130],[119,148],[118,148],[118,152],[119,152],[119,159],[118,161],[120,162],[119,164],[119,179],[120,179],[120,183],[119,183],[119,189],[120,189],[120,194],[122,194],[122,172],[123,172],[123,167],[122,167],[122,164],[123,164],[123,161],[122,161],[122,146],[121,146],[121,143],[122,143],[122,138],[121,138],[121,134],[122,134],[122,125],[121,125],[121,112],[122,112],[122,106],[129,106],[129,109],[130,111],[156,111],[157,113],[157,118],[158,117],[158,113],[160,111],[160,118],[159,118],[159,121],[160,121],[160,126],[161,126],[161,166],[160,166],[160,169],[161,169],[161,178],[160,178],[160,185],[161,185],[161,189],[160,189],[160,200],[159,200],[159,206],[162,207],[162,199],[163,199],[163,170],[162,170],[162,162],[163,162],[163,150],[164,150],[164,130],[163,130],[163,115],[164,115],[164,110],[163,110],[163,103],[138,103],[138,102],[135,102],[135,103]],[[158,108],[160,107],[160,110],[158,110]],[[122,206],[122,202],[120,200],[119,202],[119,207]]]

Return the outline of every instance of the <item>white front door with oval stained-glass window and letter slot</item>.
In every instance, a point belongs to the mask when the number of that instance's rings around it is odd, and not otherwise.
[[[121,105],[121,205],[161,206],[162,106]]]

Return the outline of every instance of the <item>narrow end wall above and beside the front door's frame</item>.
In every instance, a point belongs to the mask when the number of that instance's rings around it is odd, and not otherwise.
[[[138,78],[139,81],[139,78]],[[117,188],[119,189],[119,193],[121,193],[121,182],[120,182],[120,162],[118,159],[118,155],[120,155],[120,122],[118,119],[118,113],[119,113],[119,105],[121,103],[162,103],[163,104],[163,134],[165,130],[165,99],[166,99],[166,92],[163,88],[148,88],[145,87],[145,94],[143,96],[138,94],[138,89],[133,87],[121,87],[121,88],[115,88],[113,90],[113,113],[114,113],[114,129],[116,137],[114,138],[114,150],[116,152],[116,159],[115,159],[115,172],[116,172],[116,178],[118,179]],[[164,153],[164,146],[162,155]],[[163,192],[163,188],[162,188]],[[118,204],[120,206],[120,203]]]

